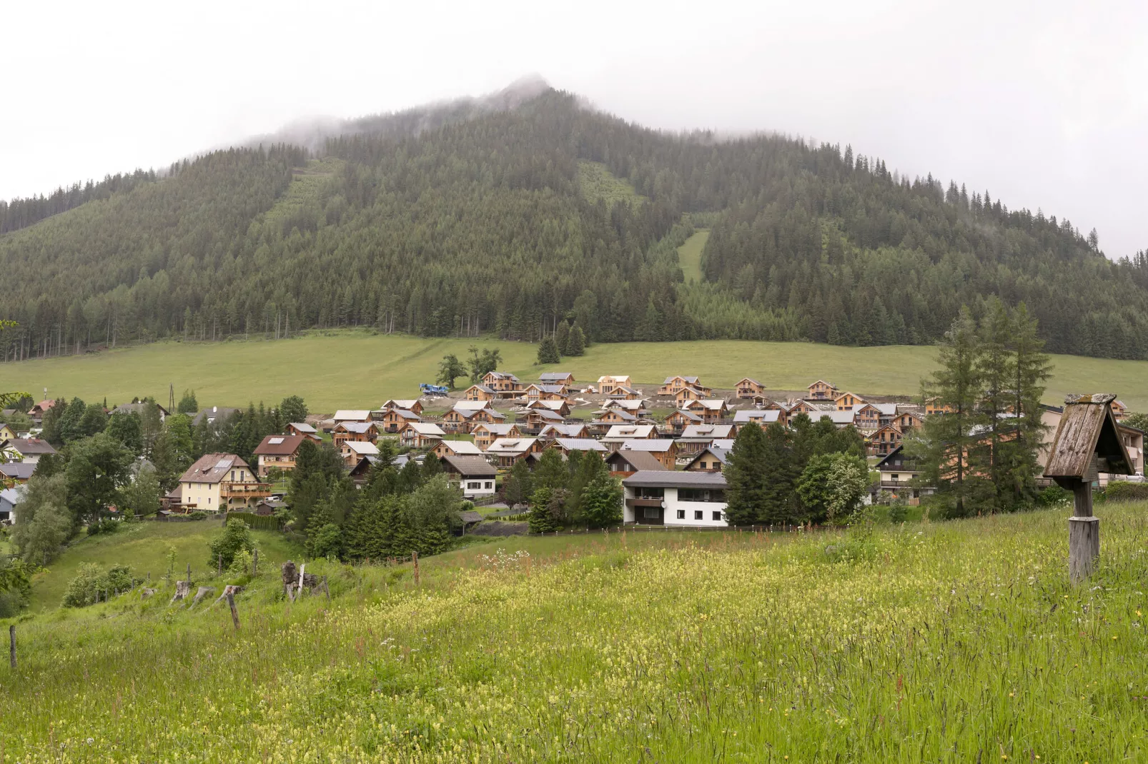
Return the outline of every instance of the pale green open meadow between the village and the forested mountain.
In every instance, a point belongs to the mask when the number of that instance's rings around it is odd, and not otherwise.
[[[812,343],[714,342],[597,344],[558,367],[534,364],[535,345],[480,340],[427,340],[405,335],[341,332],[279,342],[157,343],[79,357],[0,365],[5,389],[37,397],[79,396],[123,403],[133,396],[168,399],[193,389],[201,405],[246,405],[303,396],[316,412],[378,406],[387,398],[416,395],[433,382],[443,354],[497,346],[503,368],[522,379],[568,369],[579,380],[630,374],[636,383],[660,383],[672,374],[698,374],[707,384],[732,387],[740,377],[761,380],[771,390],[799,390],[824,377],[860,395],[916,395],[932,368],[933,349],[895,345],[844,348]],[[1148,411],[1148,361],[1054,356],[1048,402],[1066,392],[1111,390],[1133,410]],[[463,383],[463,380],[459,380]]]

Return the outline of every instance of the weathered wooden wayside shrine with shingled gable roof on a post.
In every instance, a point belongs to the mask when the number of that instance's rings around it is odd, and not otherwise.
[[[1069,517],[1069,578],[1092,575],[1100,556],[1100,519],[1092,514],[1092,484],[1100,473],[1132,475],[1132,460],[1120,441],[1112,415],[1115,393],[1068,396],[1045,465],[1045,477],[1072,491],[1075,513]]]

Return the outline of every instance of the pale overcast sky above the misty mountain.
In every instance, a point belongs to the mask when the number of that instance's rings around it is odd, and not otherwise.
[[[537,73],[627,119],[775,130],[1148,248],[1148,2],[9,3],[0,198],[307,116]]]

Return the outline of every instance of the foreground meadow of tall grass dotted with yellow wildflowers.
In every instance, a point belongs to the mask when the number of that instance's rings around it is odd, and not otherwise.
[[[501,539],[418,586],[317,564],[332,602],[269,572],[239,631],[129,595],[18,625],[0,739],[20,762],[1143,761],[1146,509],[1103,508],[1077,588],[1045,510]]]

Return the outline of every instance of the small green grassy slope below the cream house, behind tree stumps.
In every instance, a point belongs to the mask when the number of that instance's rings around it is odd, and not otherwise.
[[[127,564],[140,576],[152,574],[158,582],[168,569],[168,547],[176,547],[176,569],[183,574],[192,566],[194,579],[215,574],[208,563],[208,544],[220,532],[220,523],[211,521],[188,523],[140,522],[124,525],[111,536],[94,536],[72,544],[64,554],[48,566],[47,572],[32,582],[32,610],[52,610],[60,606],[68,582],[83,562],[102,567]],[[282,533],[253,531],[259,549],[259,564],[278,567],[300,549],[292,546]],[[180,576],[183,577],[183,576]]]

